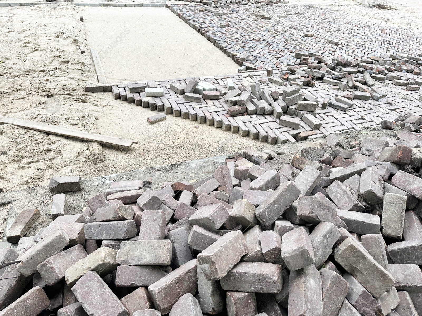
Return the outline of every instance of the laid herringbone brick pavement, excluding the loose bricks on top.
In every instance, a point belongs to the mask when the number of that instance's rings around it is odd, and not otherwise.
[[[416,56],[422,51],[421,37],[406,29],[351,21],[339,11],[315,5],[265,5],[261,9],[251,5],[232,5],[226,9],[178,4],[168,4],[167,7],[239,65],[246,65],[248,69],[254,70],[235,75],[200,78],[217,88],[226,87],[225,79],[231,78],[239,88],[259,82],[262,89],[280,89],[281,86],[268,81],[265,70],[277,68],[274,74],[278,77],[286,66],[299,64],[300,59],[294,57],[294,53],[298,51],[318,49],[319,54],[327,59],[360,59],[390,52]],[[211,10],[200,12],[200,8]],[[232,12],[231,9],[238,12]],[[271,17],[271,20],[260,19],[259,16],[262,15]],[[224,27],[223,24],[227,23],[229,27]],[[305,33],[313,33],[314,36],[304,36]],[[339,43],[335,44],[335,41]],[[244,52],[249,52],[252,56],[242,62],[241,55]],[[230,117],[227,115],[229,107],[223,98],[202,100],[202,103],[189,102],[183,95],[170,90],[170,83],[184,86],[189,79],[157,80],[158,85],[164,89],[164,96],[155,98],[152,105],[151,102],[145,103],[139,99],[138,105],[143,103],[144,107],[150,107],[151,110],[158,108],[165,110],[167,114],[173,113],[175,116],[214,125],[224,131],[239,133],[271,144],[295,142],[302,131],[312,130],[303,121],[300,122],[299,129],[281,126],[272,114]],[[354,99],[354,105],[346,112],[330,106],[326,109],[318,107],[315,113],[321,127],[315,129],[315,134],[308,139],[347,129],[360,131],[383,120],[394,120],[398,114],[407,114],[409,111],[422,115],[421,91],[408,91],[406,87],[393,85],[390,80],[376,81],[374,87],[384,91],[387,96],[378,101]],[[353,91],[356,89],[349,88],[347,93]],[[314,96],[319,104],[322,104],[327,96],[333,99],[335,96],[344,95],[344,92],[335,86],[321,80],[317,80],[313,87],[303,86],[300,92]]]

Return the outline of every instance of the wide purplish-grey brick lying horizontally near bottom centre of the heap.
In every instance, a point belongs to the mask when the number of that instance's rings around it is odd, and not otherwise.
[[[279,265],[267,262],[239,262],[220,283],[227,291],[278,293],[283,279]]]

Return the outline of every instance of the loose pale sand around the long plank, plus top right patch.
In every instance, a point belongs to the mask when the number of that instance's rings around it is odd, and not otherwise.
[[[292,4],[315,4],[291,0]],[[352,0],[319,1],[354,18],[384,20],[422,30],[420,1],[389,2],[397,10],[366,8]],[[84,92],[96,82],[79,21],[86,8],[70,3],[0,8],[0,116],[22,118],[138,141],[121,150],[92,142],[0,126],[0,190],[46,185],[53,176],[90,178],[149,166],[233,153],[267,144],[219,129],[168,116],[154,126],[151,112],[113,100],[109,94]],[[128,107],[129,105],[129,107]],[[371,135],[371,132],[368,134]],[[298,145],[283,146],[295,152]]]

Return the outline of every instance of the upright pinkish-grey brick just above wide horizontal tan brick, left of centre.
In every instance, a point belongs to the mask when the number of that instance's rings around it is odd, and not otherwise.
[[[164,239],[167,219],[161,210],[145,210],[142,214],[141,229],[138,240]]]

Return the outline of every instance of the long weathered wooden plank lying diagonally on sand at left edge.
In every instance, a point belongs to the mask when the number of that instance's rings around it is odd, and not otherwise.
[[[84,131],[78,131],[75,129],[68,129],[67,127],[60,127],[54,125],[48,125],[43,123],[37,123],[32,121],[25,121],[19,118],[0,118],[0,125],[1,124],[11,124],[14,126],[19,126],[24,129],[33,129],[35,131],[42,131],[47,134],[55,134],[61,135],[66,137],[74,137],[78,139],[85,139],[91,142],[98,142],[101,144],[108,144],[108,145],[119,145],[123,147],[130,147],[133,144],[138,144],[138,142],[134,142],[133,140],[112,137],[112,136],[104,136],[100,134],[92,134]]]

